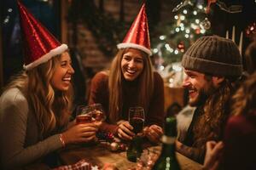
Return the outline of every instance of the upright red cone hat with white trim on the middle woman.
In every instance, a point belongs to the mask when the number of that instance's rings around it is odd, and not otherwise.
[[[150,39],[148,31],[148,18],[146,14],[145,3],[137,14],[136,19],[133,21],[130,30],[125,36],[122,43],[117,47],[120,48],[137,48],[142,50],[148,55],[152,55],[150,51]]]

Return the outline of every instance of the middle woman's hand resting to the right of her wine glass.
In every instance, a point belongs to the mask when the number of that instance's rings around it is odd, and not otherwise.
[[[144,128],[145,136],[154,143],[160,142],[160,137],[163,135],[163,129],[157,125],[151,125]]]

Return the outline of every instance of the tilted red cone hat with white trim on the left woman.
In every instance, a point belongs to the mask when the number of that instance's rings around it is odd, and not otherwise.
[[[20,1],[17,2],[20,11],[20,29],[25,52],[23,68],[31,70],[47,62],[55,55],[65,52],[67,45],[58,42]]]

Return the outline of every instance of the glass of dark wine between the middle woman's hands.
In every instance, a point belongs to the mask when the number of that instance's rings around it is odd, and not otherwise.
[[[133,133],[142,133],[145,122],[145,115],[143,107],[129,108],[129,123],[133,127]]]

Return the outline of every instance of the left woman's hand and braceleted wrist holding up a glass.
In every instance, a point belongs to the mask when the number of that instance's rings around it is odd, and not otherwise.
[[[62,133],[65,144],[78,144],[96,139],[98,128],[94,123],[81,123]]]

